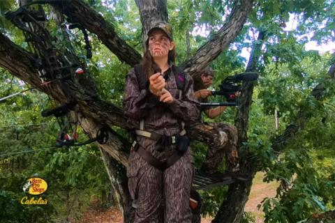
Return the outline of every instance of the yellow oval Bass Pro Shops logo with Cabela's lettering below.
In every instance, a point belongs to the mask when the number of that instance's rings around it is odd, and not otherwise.
[[[33,177],[28,178],[24,181],[22,185],[22,190],[26,194],[31,195],[40,195],[47,191],[47,181],[43,178]],[[22,204],[47,204],[47,199],[43,199],[42,197],[30,199],[26,196],[21,199]]]

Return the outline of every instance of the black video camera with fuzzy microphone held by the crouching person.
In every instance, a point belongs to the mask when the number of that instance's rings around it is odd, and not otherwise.
[[[200,103],[201,106],[238,106],[239,98],[236,95],[238,91],[241,91],[241,82],[252,82],[258,79],[257,72],[243,72],[237,75],[229,76],[223,79],[223,82],[218,86],[218,91],[211,91],[211,95],[225,96],[227,102],[210,102]]]

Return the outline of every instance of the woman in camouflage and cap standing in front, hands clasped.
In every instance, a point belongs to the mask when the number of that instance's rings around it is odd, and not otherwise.
[[[171,26],[160,22],[147,36],[147,51],[128,73],[124,93],[136,133],[127,168],[135,222],[158,222],[163,207],[164,222],[190,223],[194,162],[183,121],[198,118],[199,103],[191,76],[173,65]]]

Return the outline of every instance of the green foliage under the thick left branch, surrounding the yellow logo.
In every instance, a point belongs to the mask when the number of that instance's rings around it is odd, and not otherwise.
[[[0,95],[27,89],[26,84],[3,72]],[[1,102],[0,109],[0,217],[1,222],[52,222],[79,219],[92,199],[110,191],[100,152],[96,146],[55,148],[59,125],[40,112],[50,102],[41,93],[27,92]],[[83,139],[80,134],[80,140]],[[22,183],[31,176],[45,178],[47,205],[20,204]],[[105,205],[107,201],[102,201]]]

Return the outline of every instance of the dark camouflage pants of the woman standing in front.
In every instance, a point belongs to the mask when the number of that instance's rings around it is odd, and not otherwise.
[[[166,160],[175,151],[174,146],[169,146],[159,153],[150,139],[140,139],[139,142],[161,161]],[[164,222],[191,223],[189,199],[193,179],[193,158],[190,149],[165,171],[152,167],[132,150],[128,160],[127,176],[129,192],[136,210],[135,223],[159,222],[163,196]]]

